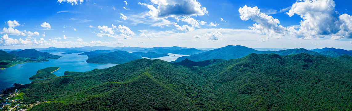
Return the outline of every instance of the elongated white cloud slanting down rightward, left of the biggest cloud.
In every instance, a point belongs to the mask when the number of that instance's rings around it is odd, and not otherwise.
[[[252,19],[256,23],[249,27],[257,33],[266,34],[272,38],[282,38],[286,34],[287,29],[280,24],[278,19],[272,18],[265,13],[261,13],[258,7],[241,7],[238,10],[242,20]],[[258,23],[258,24],[257,24]]]

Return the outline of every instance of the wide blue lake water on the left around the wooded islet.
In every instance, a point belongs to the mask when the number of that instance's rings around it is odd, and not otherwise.
[[[87,63],[86,55],[67,54],[61,55],[60,53],[50,53],[54,55],[63,56],[57,60],[49,60],[48,62],[27,62],[8,67],[0,70],[0,90],[12,87],[14,83],[29,84],[33,80],[29,77],[37,73],[39,69],[46,67],[60,67],[55,71],[56,76],[64,75],[65,71],[86,72],[95,68],[103,69],[115,66],[117,64],[95,64]]]

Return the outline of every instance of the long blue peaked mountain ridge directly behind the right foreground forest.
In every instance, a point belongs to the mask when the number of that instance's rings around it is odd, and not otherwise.
[[[235,58],[241,58],[244,56],[247,56],[251,53],[256,53],[256,54],[279,54],[279,55],[291,55],[291,54],[299,54],[299,53],[308,53],[310,55],[321,55],[317,52],[314,51],[309,51],[307,49],[287,49],[287,50],[279,50],[279,51],[258,51],[254,50],[252,48],[244,47],[241,45],[228,45],[226,47],[206,51],[204,53],[200,54],[195,54],[195,55],[190,55],[190,56],[182,56],[178,57],[177,60],[175,61],[182,61],[188,58],[188,60],[191,61],[205,61],[205,60],[210,60],[210,59],[224,59],[224,60],[230,60],[230,59],[235,59]]]

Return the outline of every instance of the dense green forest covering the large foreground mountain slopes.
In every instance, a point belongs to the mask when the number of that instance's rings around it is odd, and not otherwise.
[[[138,59],[15,85],[32,111],[352,110],[352,57],[249,54],[205,67]],[[10,91],[10,90],[9,90]]]

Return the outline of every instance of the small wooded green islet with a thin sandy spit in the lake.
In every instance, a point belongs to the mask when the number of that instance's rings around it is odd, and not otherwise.
[[[59,67],[47,67],[44,69],[39,69],[37,71],[37,74],[31,76],[29,79],[40,79],[40,78],[47,78],[49,76],[56,76],[55,74],[53,74],[52,72],[58,70]]]

